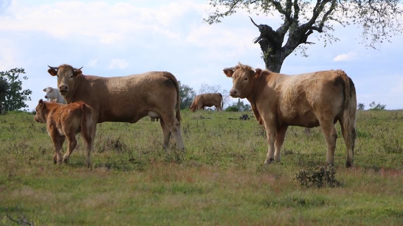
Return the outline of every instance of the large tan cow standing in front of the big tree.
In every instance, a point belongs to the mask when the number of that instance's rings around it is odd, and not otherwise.
[[[247,98],[256,120],[267,134],[268,151],[264,164],[281,160],[281,146],[288,126],[320,126],[327,143],[326,165],[333,165],[339,121],[347,148],[346,167],[353,167],[356,139],[356,90],[342,70],[285,75],[253,69],[239,63],[225,68],[233,79],[232,97]]]

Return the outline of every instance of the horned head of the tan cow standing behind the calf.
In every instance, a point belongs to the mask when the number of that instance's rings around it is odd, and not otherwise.
[[[75,78],[82,74],[81,68],[74,68],[68,64],[62,64],[58,67],[48,66],[50,75],[57,76],[57,88],[61,95],[69,94],[74,89]]]

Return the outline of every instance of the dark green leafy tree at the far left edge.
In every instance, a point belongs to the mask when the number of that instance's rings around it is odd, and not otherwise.
[[[31,100],[31,90],[22,90],[22,81],[20,80],[20,74],[25,74],[23,68],[14,68],[9,71],[0,72],[0,112],[2,110],[18,110],[23,107],[28,107],[24,102]],[[28,80],[27,76],[23,77],[24,80]],[[22,91],[21,91],[22,90]]]

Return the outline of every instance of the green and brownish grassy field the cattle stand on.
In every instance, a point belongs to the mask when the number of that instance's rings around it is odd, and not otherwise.
[[[290,127],[282,162],[264,166],[265,133],[254,118],[228,120],[240,116],[182,111],[185,151],[173,138],[162,149],[149,118],[99,124],[86,168],[80,136],[69,165],[54,165],[44,124],[2,115],[0,225],[22,214],[35,225],[403,225],[403,110],[358,111],[353,169],[337,124],[340,186],[322,188],[295,183],[324,165],[319,128]]]

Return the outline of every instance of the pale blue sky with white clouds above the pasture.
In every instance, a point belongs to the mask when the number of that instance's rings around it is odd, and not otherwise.
[[[99,76],[169,71],[195,90],[202,83],[229,90],[232,80],[223,68],[238,61],[264,68],[260,47],[253,44],[259,32],[248,16],[276,29],[281,20],[238,10],[222,23],[208,25],[203,19],[213,11],[209,9],[203,0],[0,0],[0,71],[25,69],[29,79],[23,81],[24,89],[33,91],[29,109],[43,98],[43,88],[56,86],[47,65],[63,63]],[[316,44],[308,46],[309,57],[293,53],[281,72],[342,69],[353,79],[359,102],[368,106],[375,100],[390,107],[389,97],[403,101],[403,37],[392,37],[374,50],[360,44],[356,26],[334,28],[340,41],[324,47],[312,34],[308,41]]]

